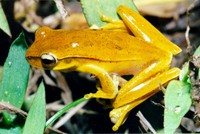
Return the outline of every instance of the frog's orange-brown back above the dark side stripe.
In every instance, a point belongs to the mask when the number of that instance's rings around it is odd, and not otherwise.
[[[81,57],[101,61],[151,59],[161,50],[128,33],[105,30],[54,30],[42,40],[38,51],[56,53],[57,57]],[[37,39],[36,41],[37,42]],[[47,49],[48,48],[48,49]],[[155,55],[152,57],[155,59]]]

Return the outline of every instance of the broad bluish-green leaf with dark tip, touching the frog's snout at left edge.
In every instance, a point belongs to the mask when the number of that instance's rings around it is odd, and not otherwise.
[[[30,66],[25,59],[26,50],[25,37],[21,33],[10,47],[0,85],[0,101],[9,102],[17,108],[22,106],[29,79]],[[4,114],[4,119],[11,123],[11,118],[6,116],[8,114]]]

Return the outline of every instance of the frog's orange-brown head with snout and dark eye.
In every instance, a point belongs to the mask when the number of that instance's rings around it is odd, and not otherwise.
[[[33,67],[40,69],[69,70],[74,68],[75,62],[72,58],[63,58],[60,55],[60,50],[52,48],[54,32],[55,30],[48,27],[42,27],[37,30],[35,41],[26,52],[27,61]]]

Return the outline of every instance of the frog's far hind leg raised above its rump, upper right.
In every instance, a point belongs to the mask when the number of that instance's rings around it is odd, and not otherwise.
[[[177,45],[169,41],[139,13],[122,5],[118,7],[117,12],[125,25],[136,37],[141,38],[150,44],[174,55],[181,52],[181,49]]]

